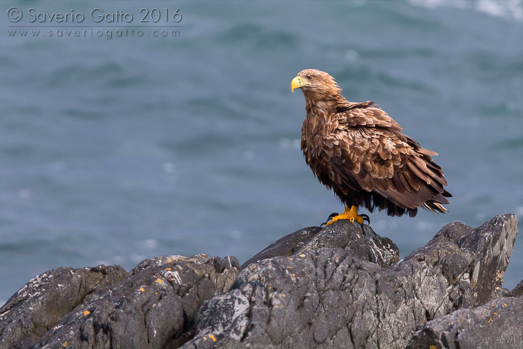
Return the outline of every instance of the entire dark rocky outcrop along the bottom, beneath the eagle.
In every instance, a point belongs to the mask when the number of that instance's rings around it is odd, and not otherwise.
[[[278,240],[241,271],[206,255],[128,274],[56,269],[0,309],[0,348],[518,348],[522,287],[501,288],[516,234],[513,214],[450,223],[398,262],[390,240],[337,221]],[[76,274],[102,271],[73,292]]]

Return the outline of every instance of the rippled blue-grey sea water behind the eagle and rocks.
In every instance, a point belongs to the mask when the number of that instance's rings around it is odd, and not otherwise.
[[[243,262],[342,210],[299,149],[304,68],[439,153],[448,214],[371,214],[402,256],[452,221],[522,229],[521,0],[1,1],[0,18],[0,304],[56,267]],[[522,279],[520,236],[504,285]]]

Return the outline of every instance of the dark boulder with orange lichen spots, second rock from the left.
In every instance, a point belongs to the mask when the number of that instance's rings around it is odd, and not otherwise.
[[[20,347],[178,348],[192,338],[199,306],[229,289],[238,266],[234,257],[206,255],[146,260],[119,283],[79,297],[79,305],[54,318],[52,328]]]

